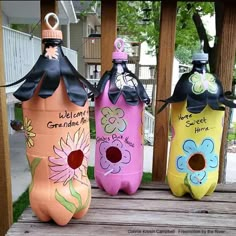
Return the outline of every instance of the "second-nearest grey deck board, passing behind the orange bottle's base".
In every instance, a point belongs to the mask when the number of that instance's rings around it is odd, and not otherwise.
[[[182,213],[157,212],[120,209],[90,209],[82,219],[72,219],[71,224],[103,224],[103,225],[145,225],[145,226],[195,226],[228,227],[236,230],[235,214]],[[25,211],[19,222],[39,223],[31,209]],[[236,232],[236,231],[235,231]]]

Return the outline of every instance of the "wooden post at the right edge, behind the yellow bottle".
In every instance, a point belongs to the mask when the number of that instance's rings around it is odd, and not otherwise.
[[[222,31],[217,48],[216,74],[226,91],[231,91],[233,69],[236,54],[236,2],[224,1]],[[229,109],[227,108],[224,119],[224,129],[220,151],[219,182],[225,182],[227,132],[229,126]]]

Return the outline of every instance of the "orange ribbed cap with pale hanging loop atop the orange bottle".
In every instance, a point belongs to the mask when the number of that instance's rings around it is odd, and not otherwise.
[[[48,20],[50,17],[53,17],[56,22],[55,25],[52,26]],[[60,30],[57,30],[59,25],[59,19],[57,15],[53,12],[48,13],[45,18],[46,26],[49,28],[48,30],[43,30],[42,32],[42,39],[62,39],[62,32]]]

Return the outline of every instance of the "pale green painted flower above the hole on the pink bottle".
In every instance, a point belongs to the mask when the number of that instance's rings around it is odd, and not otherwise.
[[[122,133],[126,129],[127,123],[125,119],[123,119],[125,113],[122,109],[116,107],[104,107],[101,112],[103,114],[101,124],[106,133]]]

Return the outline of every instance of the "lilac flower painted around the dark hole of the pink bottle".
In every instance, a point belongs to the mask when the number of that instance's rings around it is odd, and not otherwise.
[[[121,171],[122,166],[127,165],[131,161],[131,154],[125,145],[118,139],[112,142],[102,142],[99,146],[101,155],[100,165],[107,174],[117,174]]]

